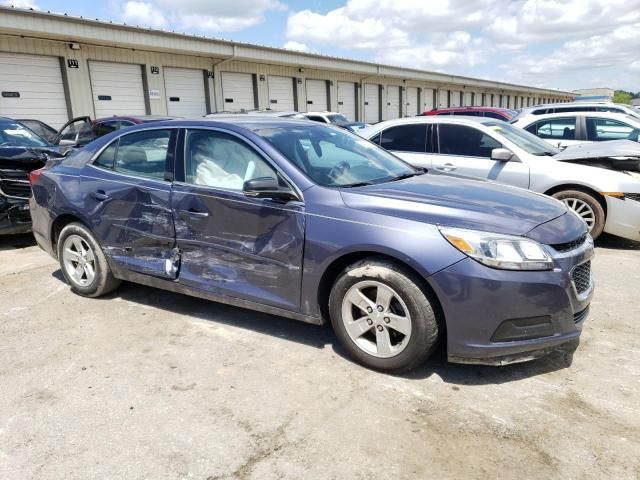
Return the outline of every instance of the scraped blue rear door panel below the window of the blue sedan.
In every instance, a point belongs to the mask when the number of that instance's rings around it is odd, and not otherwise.
[[[84,211],[116,268],[176,278],[171,183],[87,166]]]

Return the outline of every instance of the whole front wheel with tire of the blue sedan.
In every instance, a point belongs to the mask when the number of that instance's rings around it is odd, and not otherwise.
[[[336,279],[329,296],[331,324],[362,365],[387,372],[411,370],[431,355],[439,338],[429,297],[412,275],[393,263],[365,259]]]

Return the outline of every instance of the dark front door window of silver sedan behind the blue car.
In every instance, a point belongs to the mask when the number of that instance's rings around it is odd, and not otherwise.
[[[502,144],[482,130],[466,125],[438,126],[440,153],[444,155],[461,155],[465,157],[491,158],[494,148],[502,148]]]

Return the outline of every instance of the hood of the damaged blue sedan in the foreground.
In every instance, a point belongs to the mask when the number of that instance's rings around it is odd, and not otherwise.
[[[406,180],[341,191],[359,210],[435,225],[526,235],[567,213],[547,196],[484,180],[427,173]],[[575,215],[576,221],[580,220]],[[563,232],[547,243],[565,241]]]

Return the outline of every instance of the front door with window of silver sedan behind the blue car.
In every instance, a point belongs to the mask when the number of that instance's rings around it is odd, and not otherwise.
[[[529,167],[519,161],[491,159],[503,145],[476,127],[438,124],[438,152],[433,167],[441,172],[480,177],[521,188],[529,188]]]

